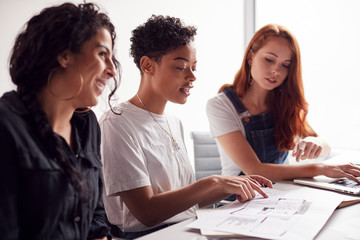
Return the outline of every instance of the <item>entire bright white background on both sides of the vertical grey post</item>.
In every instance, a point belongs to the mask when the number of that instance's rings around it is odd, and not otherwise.
[[[71,2],[79,3],[72,0]],[[16,34],[42,8],[56,0],[0,0],[0,95],[13,89],[8,57]],[[243,55],[243,1],[239,0],[98,0],[117,30],[117,52],[122,65],[119,101],[133,96],[139,72],[129,57],[130,36],[151,14],[180,17],[198,27],[198,71],[195,88],[185,105],[169,104],[167,112],[184,124],[192,160],[191,131],[208,131],[207,99],[224,82],[232,82]],[[332,146],[360,149],[360,1],[256,0],[256,29],[267,23],[288,27],[300,43],[305,96],[312,127]],[[94,108],[106,110],[106,94]]]

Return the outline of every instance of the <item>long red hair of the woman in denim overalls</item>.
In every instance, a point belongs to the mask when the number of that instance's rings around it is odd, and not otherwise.
[[[243,97],[250,87],[248,81],[250,65],[248,57],[250,51],[256,53],[270,37],[285,38],[292,51],[288,76],[281,86],[273,89],[268,96],[269,106],[273,114],[275,129],[274,137],[280,151],[293,149],[296,137],[316,136],[306,121],[308,103],[304,97],[304,87],[301,75],[300,48],[295,36],[285,27],[268,24],[258,30],[251,39],[241,65],[236,73],[233,84],[223,85],[232,87],[239,97]]]

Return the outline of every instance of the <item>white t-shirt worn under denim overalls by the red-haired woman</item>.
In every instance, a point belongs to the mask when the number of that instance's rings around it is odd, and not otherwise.
[[[250,116],[250,114],[248,111],[244,111],[241,114],[237,113],[234,105],[225,93],[221,92],[208,100],[206,113],[212,137],[216,138],[235,131],[240,131],[246,137],[241,119]],[[225,176],[239,175],[241,169],[226,154],[221,145],[219,143],[217,145],[221,159],[221,174]]]

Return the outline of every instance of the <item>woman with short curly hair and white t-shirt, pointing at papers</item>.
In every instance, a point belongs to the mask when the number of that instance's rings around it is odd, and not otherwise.
[[[238,194],[266,197],[260,176],[210,176],[195,181],[179,119],[164,114],[168,101],[184,104],[196,80],[196,28],[178,18],[152,16],[132,32],[131,55],[140,70],[137,94],[100,120],[104,204],[114,236],[132,239],[184,219]]]

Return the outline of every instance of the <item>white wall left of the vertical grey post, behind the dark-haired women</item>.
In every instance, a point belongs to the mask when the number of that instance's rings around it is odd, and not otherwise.
[[[0,95],[13,89],[8,73],[8,56],[17,33],[29,18],[42,8],[62,3],[54,0],[0,0]],[[71,1],[79,3],[81,1]],[[140,74],[129,56],[131,31],[152,14],[181,18],[186,24],[198,27],[197,81],[185,105],[169,103],[167,112],[177,115],[185,128],[185,141],[190,159],[193,149],[191,131],[208,131],[206,101],[217,93],[225,82],[232,82],[243,55],[244,13],[239,0],[102,0],[96,1],[105,9],[116,27],[116,55],[122,66],[122,81],[117,92],[119,101],[132,97],[138,88]],[[106,107],[106,92],[94,108],[98,117]]]

